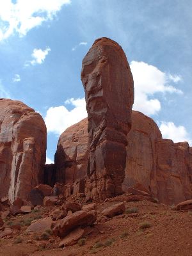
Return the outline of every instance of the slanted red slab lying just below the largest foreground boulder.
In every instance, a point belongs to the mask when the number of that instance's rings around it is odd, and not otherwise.
[[[83,228],[77,228],[70,232],[68,236],[63,238],[59,244],[59,247],[63,246],[72,246],[77,243],[77,241],[84,236],[84,229]]]

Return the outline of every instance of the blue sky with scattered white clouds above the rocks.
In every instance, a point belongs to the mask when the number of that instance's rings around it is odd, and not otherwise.
[[[191,0],[0,0],[0,97],[43,116],[52,163],[61,132],[87,115],[81,63],[106,36],[129,61],[133,109],[192,146],[191,13]]]

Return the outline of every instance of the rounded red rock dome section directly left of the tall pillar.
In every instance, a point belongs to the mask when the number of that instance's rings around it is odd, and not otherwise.
[[[87,119],[72,125],[63,132],[55,154],[55,179],[57,182],[72,184],[86,177],[88,159]]]

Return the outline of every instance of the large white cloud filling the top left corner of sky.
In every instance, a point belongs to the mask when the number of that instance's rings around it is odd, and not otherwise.
[[[52,20],[70,0],[12,0],[0,1],[0,41],[14,33],[24,36],[42,22]]]

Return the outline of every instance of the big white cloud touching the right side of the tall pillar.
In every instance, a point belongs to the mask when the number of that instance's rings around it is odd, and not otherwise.
[[[180,76],[167,74],[142,61],[131,61],[130,67],[135,92],[133,109],[145,115],[155,115],[161,110],[161,102],[154,97],[155,93],[182,94],[181,90],[170,85],[178,83],[181,80]]]

